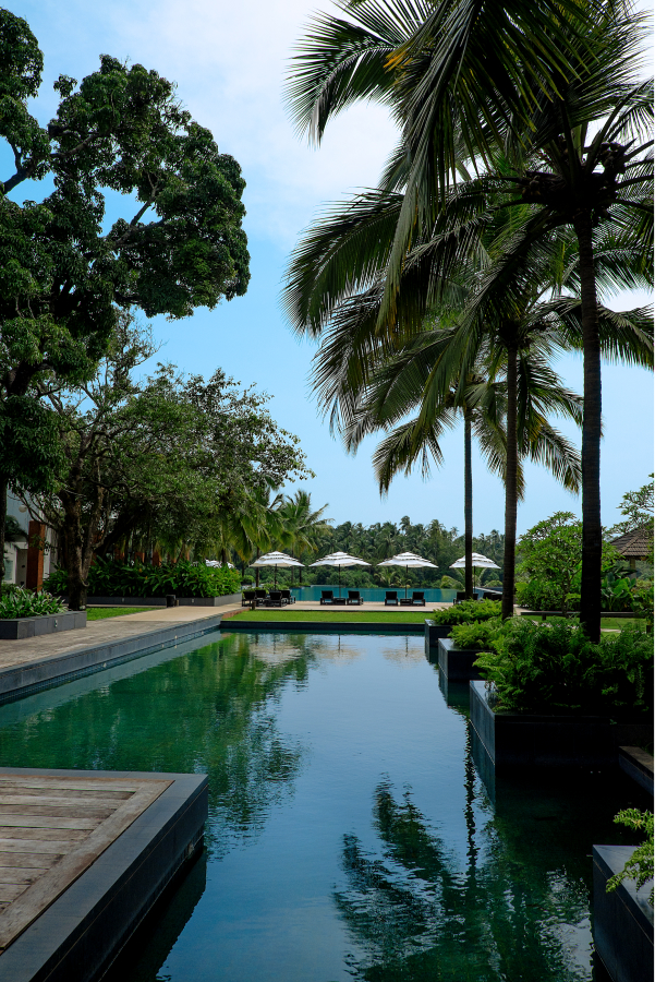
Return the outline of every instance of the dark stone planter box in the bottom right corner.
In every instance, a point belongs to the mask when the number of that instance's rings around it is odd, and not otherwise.
[[[607,881],[620,873],[634,852],[632,846],[594,846],[594,946],[614,982],[644,982],[653,978],[652,883],[636,889],[624,879],[606,891]]]

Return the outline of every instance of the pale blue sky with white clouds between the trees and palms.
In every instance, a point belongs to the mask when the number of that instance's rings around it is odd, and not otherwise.
[[[353,457],[330,435],[308,383],[315,345],[291,333],[280,304],[286,264],[302,230],[327,202],[374,187],[397,137],[387,112],[374,104],[337,118],[318,149],[294,132],[282,99],[293,47],[316,10],[335,8],[327,0],[5,0],[4,5],[28,22],[44,52],[41,93],[32,106],[41,122],[54,112],[58,75],[81,80],[98,68],[101,53],[112,55],[174,81],[193,117],[241,165],[252,274],[247,294],[184,321],[154,319],[162,344],[157,359],[206,378],[220,367],[267,392],[274,419],[300,436],[316,474],[302,487],[312,492],[315,506],[328,505],[326,515],[337,524],[398,523],[408,515],[414,523],[436,518],[461,530],[463,428],[445,436],[445,463],[433,468],[428,481],[419,472],[398,477],[381,499],[371,465],[375,439]],[[129,201],[112,207],[117,217],[132,217]],[[622,295],[610,302],[621,310],[648,299]],[[582,391],[578,356],[561,358],[557,370],[566,384]],[[603,403],[603,522],[611,526],[620,519],[622,494],[644,484],[653,471],[652,374],[605,364]],[[559,426],[579,445],[575,428]],[[473,481],[475,534],[502,530],[502,486],[475,452]],[[519,532],[556,511],[580,514],[580,498],[545,469],[526,466]]]

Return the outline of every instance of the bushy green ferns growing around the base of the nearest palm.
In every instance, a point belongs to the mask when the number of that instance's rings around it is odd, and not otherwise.
[[[589,640],[566,621],[507,622],[476,660],[504,709],[647,717],[653,711],[653,640],[639,627]]]

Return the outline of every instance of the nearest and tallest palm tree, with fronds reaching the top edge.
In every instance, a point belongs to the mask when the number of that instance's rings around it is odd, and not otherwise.
[[[360,195],[347,214],[328,215],[296,251],[286,291],[292,323],[318,334],[340,303],[369,288],[374,312],[360,324],[353,351],[365,355],[372,333],[392,345],[401,311],[405,331],[411,321],[421,323],[450,287],[454,265],[478,248],[489,195],[510,188],[519,196],[506,207],[520,207],[488,292],[492,284],[497,291],[521,289],[544,240],[561,227],[574,231],[584,351],[581,618],[597,638],[599,240],[609,228],[623,250],[617,285],[648,279],[651,265],[652,144],[626,143],[639,142],[653,112],[651,86],[636,77],[640,21],[609,2],[554,9],[515,0],[498,10],[485,4],[484,15],[459,0],[343,9],[354,24],[323,17],[296,60],[289,96],[299,125],[319,140],[331,115],[357,98],[377,98],[391,107],[402,140],[380,189]],[[498,172],[498,148],[509,153],[513,173]],[[465,157],[488,173],[462,193],[449,180]],[[428,266],[430,291],[416,294],[412,274],[423,271],[426,278]]]

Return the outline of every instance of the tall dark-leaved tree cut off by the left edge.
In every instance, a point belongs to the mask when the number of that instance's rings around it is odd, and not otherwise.
[[[185,318],[244,294],[250,274],[239,165],[170,82],[105,55],[80,85],[59,76],[41,127],[27,100],[43,55],[8,10],[0,65],[0,137],[14,161],[0,187],[0,427],[17,448],[0,471],[1,554],[7,484],[46,490],[54,479],[44,391],[93,376],[119,309]],[[9,196],[26,181],[31,197],[43,182],[39,202]],[[107,192],[131,208],[111,224]]]

